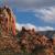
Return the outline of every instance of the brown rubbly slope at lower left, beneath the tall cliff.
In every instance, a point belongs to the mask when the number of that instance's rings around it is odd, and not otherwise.
[[[1,50],[11,50],[13,52],[21,52],[21,46],[18,41],[12,36],[9,37],[0,37],[0,51]]]

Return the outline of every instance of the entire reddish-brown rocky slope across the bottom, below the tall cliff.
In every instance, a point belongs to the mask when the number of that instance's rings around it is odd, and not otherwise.
[[[22,31],[18,32],[15,36],[0,37],[0,51],[12,51],[18,55],[55,55],[55,37],[48,38],[46,35],[35,32],[34,29],[22,28]]]

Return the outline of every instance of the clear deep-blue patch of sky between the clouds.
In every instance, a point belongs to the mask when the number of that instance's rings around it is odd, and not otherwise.
[[[19,10],[14,10],[15,16],[16,16],[16,22],[19,23],[32,23],[36,26],[54,26],[54,23],[47,23],[41,20],[40,18],[36,18],[34,15],[34,12],[22,12]]]

